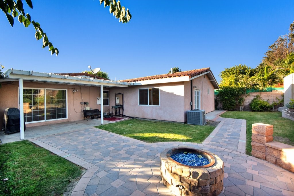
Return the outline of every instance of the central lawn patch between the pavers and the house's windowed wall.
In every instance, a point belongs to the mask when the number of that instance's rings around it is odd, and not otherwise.
[[[200,126],[138,119],[96,126],[99,129],[149,143],[168,141],[202,143],[215,127],[216,125],[210,124]]]

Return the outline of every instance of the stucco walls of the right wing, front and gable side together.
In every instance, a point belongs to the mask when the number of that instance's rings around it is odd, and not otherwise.
[[[162,83],[156,85],[130,86],[129,88],[111,88],[110,105],[115,105],[115,94],[123,93],[124,115],[156,120],[186,122],[186,111],[190,110],[191,101],[190,81],[177,83]],[[214,110],[214,87],[209,78],[200,76],[193,79],[193,86],[201,90],[201,109],[206,113]],[[138,89],[159,88],[160,106],[138,105]],[[210,89],[208,95],[207,89]],[[194,89],[193,89],[193,109]]]

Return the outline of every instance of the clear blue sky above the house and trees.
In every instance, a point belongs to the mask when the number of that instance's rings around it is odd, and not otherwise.
[[[122,24],[98,0],[32,0],[25,6],[59,55],[42,49],[34,27],[0,14],[0,63],[7,68],[74,73],[100,67],[113,80],[238,64],[256,67],[268,46],[288,33],[294,1],[121,0],[132,19]],[[25,2],[24,2],[25,4]]]

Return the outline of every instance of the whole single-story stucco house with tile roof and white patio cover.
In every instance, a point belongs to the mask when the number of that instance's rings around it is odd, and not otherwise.
[[[11,68],[0,82],[0,119],[6,108],[19,108],[27,127],[81,120],[85,108],[105,113],[118,103],[126,116],[186,122],[187,110],[214,110],[214,89],[219,88],[210,68],[121,81]]]

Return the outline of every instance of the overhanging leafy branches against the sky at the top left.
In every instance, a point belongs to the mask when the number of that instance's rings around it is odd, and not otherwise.
[[[33,9],[33,3],[31,0],[25,0],[26,4]],[[109,12],[113,13],[113,16],[115,16],[117,19],[119,19],[119,22],[126,23],[131,20],[132,15],[130,14],[130,11],[126,9],[124,6],[121,6],[121,2],[116,0],[100,0],[100,5],[104,1],[104,7],[109,6]],[[37,40],[43,38],[43,46],[42,48],[45,48],[48,46],[49,51],[51,51],[52,54],[58,55],[59,51],[57,48],[54,48],[53,44],[49,42],[48,36],[46,33],[41,29],[41,25],[38,22],[35,22],[34,20],[31,20],[31,16],[24,12],[24,4],[22,0],[0,0],[0,9],[4,12],[6,15],[9,23],[11,26],[14,25],[14,18],[18,16],[18,21],[22,24],[24,24],[25,27],[28,27],[30,24],[32,24],[36,30],[35,37]]]

